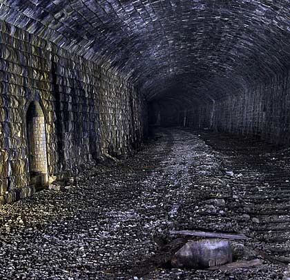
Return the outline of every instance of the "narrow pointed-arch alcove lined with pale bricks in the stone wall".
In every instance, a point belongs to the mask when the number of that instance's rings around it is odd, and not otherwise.
[[[37,187],[48,182],[46,124],[39,102],[31,102],[26,113],[28,142],[28,184]]]

